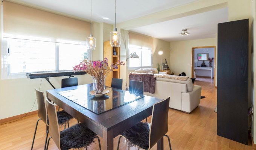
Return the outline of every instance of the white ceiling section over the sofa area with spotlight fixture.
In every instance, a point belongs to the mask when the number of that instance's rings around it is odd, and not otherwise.
[[[169,20],[148,26],[133,28],[141,34],[166,41],[192,40],[215,37],[217,24],[228,21],[228,8],[198,13],[183,18]],[[181,36],[182,29],[187,28],[189,35]]]

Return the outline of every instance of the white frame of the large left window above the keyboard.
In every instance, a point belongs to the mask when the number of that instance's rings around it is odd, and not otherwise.
[[[64,72],[64,71],[73,71],[70,70],[61,70],[59,71],[59,44],[63,44],[61,42],[52,42],[55,43],[55,71],[35,71],[35,72],[20,72],[20,73],[10,73],[9,64],[6,62],[8,58],[8,48],[10,45],[8,44],[8,39],[18,39],[18,40],[31,40],[31,39],[19,39],[19,38],[12,38],[12,37],[2,37],[2,54],[1,54],[1,79],[17,79],[17,78],[27,78],[27,73],[40,73],[40,72]],[[32,40],[32,41],[39,41],[39,42],[49,42],[43,40]],[[73,43],[64,43],[64,44],[73,44]],[[74,44],[74,45],[84,45],[84,44]],[[86,45],[84,45],[86,46]],[[88,60],[91,60],[91,49],[87,49]]]

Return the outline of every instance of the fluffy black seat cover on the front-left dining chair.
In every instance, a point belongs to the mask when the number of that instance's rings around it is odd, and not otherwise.
[[[61,145],[66,148],[82,148],[94,142],[96,133],[79,123],[60,132]]]

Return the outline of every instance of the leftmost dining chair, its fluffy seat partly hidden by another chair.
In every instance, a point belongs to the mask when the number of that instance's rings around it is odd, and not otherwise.
[[[38,114],[39,119],[37,120],[37,124],[35,125],[35,132],[34,132],[34,137],[33,137],[33,141],[32,141],[31,150],[33,149],[33,146],[34,146],[35,134],[37,133],[38,121],[42,120],[47,126],[46,141],[45,141],[45,144],[44,144],[44,149],[46,147],[47,136],[48,136],[48,133],[49,133],[49,131],[48,131],[48,117],[47,117],[46,101],[45,101],[45,97],[44,97],[44,92],[41,92],[41,91],[35,89],[35,93],[37,95],[37,105],[38,105],[38,113],[37,114]],[[66,113],[66,111],[58,111],[57,116],[58,116],[58,124],[61,124],[61,125],[63,125],[63,124],[66,125],[66,123],[73,118],[71,115]]]

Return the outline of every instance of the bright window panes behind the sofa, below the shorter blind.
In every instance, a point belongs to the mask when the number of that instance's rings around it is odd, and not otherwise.
[[[130,68],[142,68],[152,66],[152,50],[148,48],[129,48],[129,54],[136,52],[139,58],[130,58],[129,67]]]

